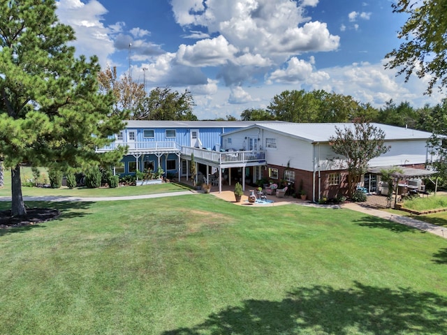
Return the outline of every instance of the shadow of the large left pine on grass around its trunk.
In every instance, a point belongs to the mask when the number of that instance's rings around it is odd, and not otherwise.
[[[28,210],[30,209],[54,209],[53,216],[48,216],[45,221],[33,221],[33,218],[30,218],[31,221],[25,222],[23,225],[13,225],[6,226],[6,228],[0,228],[0,237],[3,237],[8,234],[13,234],[15,232],[27,232],[34,228],[45,228],[46,225],[44,223],[48,223],[50,221],[61,221],[69,218],[80,218],[86,215],[89,215],[85,209],[89,209],[91,204],[94,202],[52,202],[52,201],[27,201],[25,202],[25,206]],[[10,205],[9,205],[10,206]],[[5,207],[3,204],[2,207]],[[10,207],[9,207],[10,208]],[[27,221],[27,220],[24,220]]]

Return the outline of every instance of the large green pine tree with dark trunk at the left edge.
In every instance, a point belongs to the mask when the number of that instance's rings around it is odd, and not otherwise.
[[[98,94],[97,58],[76,59],[54,0],[0,1],[0,156],[11,169],[13,216],[26,214],[21,163],[66,170],[113,163],[97,154],[124,128],[112,94]]]

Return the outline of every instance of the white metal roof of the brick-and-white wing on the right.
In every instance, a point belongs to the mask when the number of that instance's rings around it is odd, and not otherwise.
[[[249,128],[258,127],[283,135],[299,138],[307,142],[328,142],[331,136],[336,136],[336,128],[351,128],[352,123],[338,124],[256,124]],[[428,140],[432,133],[426,131],[416,131],[410,128],[388,126],[386,124],[372,124],[385,132],[385,140]],[[242,130],[241,130],[242,131]],[[237,131],[234,131],[235,133]],[[228,135],[225,134],[225,135]]]

